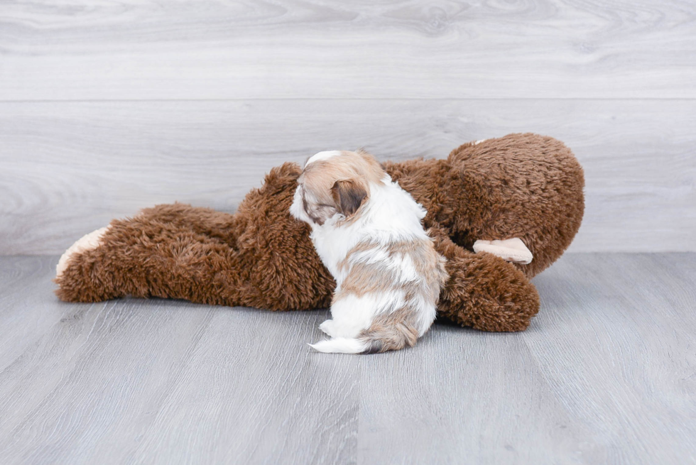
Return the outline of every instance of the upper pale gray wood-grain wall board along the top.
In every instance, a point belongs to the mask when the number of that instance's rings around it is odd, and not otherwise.
[[[679,0],[3,1],[0,100],[695,98]]]

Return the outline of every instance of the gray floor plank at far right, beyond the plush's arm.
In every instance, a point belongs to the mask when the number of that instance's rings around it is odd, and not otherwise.
[[[525,340],[602,463],[682,464],[696,444],[696,255],[573,254],[537,279]]]

